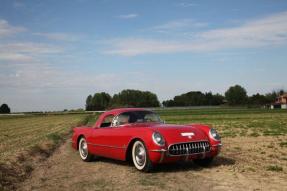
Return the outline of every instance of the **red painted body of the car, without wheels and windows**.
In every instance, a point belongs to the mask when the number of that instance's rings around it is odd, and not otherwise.
[[[106,117],[115,117],[121,113],[133,111],[148,110],[140,108],[114,109],[101,114],[93,127],[74,128],[73,148],[79,149],[79,140],[84,137],[89,153],[124,161],[129,159],[133,143],[136,140],[141,140],[152,164],[213,158],[220,152],[220,139],[214,139],[210,134],[211,128],[206,125],[147,122],[101,127]],[[154,132],[162,135],[165,140],[164,145],[155,144],[152,139]]]

